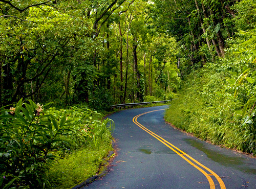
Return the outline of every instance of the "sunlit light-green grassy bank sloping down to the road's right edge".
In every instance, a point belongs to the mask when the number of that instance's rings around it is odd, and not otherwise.
[[[220,61],[187,76],[165,119],[203,140],[256,154],[254,113],[247,110],[242,116],[246,94],[241,90],[234,98],[234,89],[227,82],[232,76],[225,67]]]

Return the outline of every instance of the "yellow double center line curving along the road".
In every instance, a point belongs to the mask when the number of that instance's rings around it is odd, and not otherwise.
[[[161,109],[161,110],[165,110],[165,109]],[[161,111],[161,110],[154,110],[154,111]],[[185,152],[183,152],[182,150],[180,150],[179,148],[177,148],[176,146],[174,146],[173,144],[170,144],[167,140],[163,139],[161,136],[158,136],[156,133],[152,132],[151,130],[145,128],[143,125],[141,125],[137,119],[139,116],[147,114],[147,113],[151,113],[154,111],[148,111],[145,113],[141,113],[139,115],[136,115],[133,118],[133,122],[138,125],[141,129],[143,129],[144,131],[146,131],[148,134],[154,136],[156,139],[158,139],[161,143],[163,143],[165,146],[167,146],[169,149],[173,150],[176,154],[178,154],[180,157],[182,157],[183,159],[185,159],[189,164],[191,164],[191,166],[195,167],[196,169],[198,169],[201,173],[204,174],[204,176],[207,178],[207,180],[209,181],[210,184],[210,189],[215,189],[215,183],[212,180],[212,178],[210,177],[211,175],[215,176],[215,178],[218,180],[221,189],[225,189],[226,186],[224,184],[224,182],[222,181],[222,179],[214,172],[211,171],[209,168],[205,167],[203,164],[201,164],[200,162],[198,162],[196,159],[194,159],[193,157],[189,156],[188,154],[186,154]],[[186,156],[186,157],[185,157]],[[200,168],[201,167],[201,168]],[[203,169],[204,170],[203,170]],[[206,173],[205,170],[207,170],[210,174]]]

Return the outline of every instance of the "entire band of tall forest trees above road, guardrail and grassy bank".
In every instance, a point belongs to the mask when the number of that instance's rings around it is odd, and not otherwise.
[[[254,6],[249,0],[2,0],[0,105],[24,98],[108,108],[148,96],[172,99],[184,74],[253,35]]]

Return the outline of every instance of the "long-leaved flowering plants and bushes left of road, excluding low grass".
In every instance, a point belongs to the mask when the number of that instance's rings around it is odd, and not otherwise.
[[[77,107],[43,110],[31,100],[29,104],[20,100],[9,110],[2,108],[1,188],[49,188],[47,172],[56,157],[53,151],[62,157],[81,147],[99,149],[102,143],[110,144],[107,124],[113,127],[112,121],[95,121],[95,114]]]

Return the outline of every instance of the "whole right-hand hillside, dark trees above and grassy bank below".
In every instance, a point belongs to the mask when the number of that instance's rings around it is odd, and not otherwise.
[[[183,47],[179,100],[172,102],[166,120],[214,144],[254,155],[255,1],[157,2],[157,26]]]

